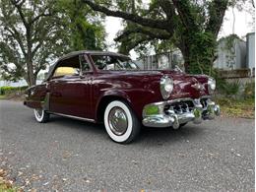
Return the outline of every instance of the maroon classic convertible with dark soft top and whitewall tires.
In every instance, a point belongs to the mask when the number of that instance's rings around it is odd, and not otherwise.
[[[41,83],[26,91],[24,104],[36,121],[50,114],[104,123],[108,136],[129,143],[144,127],[178,129],[214,119],[216,81],[180,70],[140,70],[128,56],[76,51],[53,64]]]

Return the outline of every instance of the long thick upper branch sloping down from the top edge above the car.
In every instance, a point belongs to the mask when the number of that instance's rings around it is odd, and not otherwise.
[[[134,22],[136,24],[139,24],[141,26],[146,26],[150,28],[157,28],[161,30],[167,30],[169,28],[167,25],[168,24],[167,21],[164,21],[164,20],[152,20],[152,19],[140,17],[136,14],[129,14],[122,11],[112,11],[106,7],[97,5],[91,0],[83,0],[83,2],[89,5],[93,10],[104,13],[107,16],[122,18],[125,20],[129,20],[131,22]]]

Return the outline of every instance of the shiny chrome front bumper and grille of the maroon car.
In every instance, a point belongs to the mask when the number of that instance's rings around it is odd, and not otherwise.
[[[214,119],[220,115],[220,106],[209,96],[197,99],[180,98],[147,104],[143,110],[143,125],[146,127],[173,127],[193,121]]]

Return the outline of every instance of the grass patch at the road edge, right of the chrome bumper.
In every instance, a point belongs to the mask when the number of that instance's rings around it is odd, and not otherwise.
[[[254,98],[234,99],[217,98],[215,99],[221,106],[221,113],[225,116],[255,118],[255,100]]]

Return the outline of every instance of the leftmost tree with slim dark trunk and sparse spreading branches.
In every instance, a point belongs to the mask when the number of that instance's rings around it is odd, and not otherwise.
[[[0,68],[5,79],[24,77],[35,85],[36,76],[54,55],[63,51],[52,1],[1,0]]]

